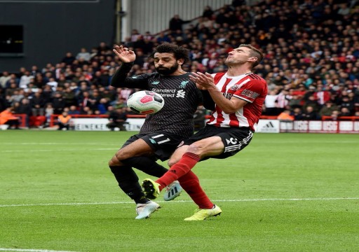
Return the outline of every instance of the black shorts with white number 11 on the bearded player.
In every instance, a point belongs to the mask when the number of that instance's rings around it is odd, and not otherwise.
[[[161,161],[168,160],[179,143],[183,140],[183,136],[169,132],[154,132],[151,134],[135,134],[123,144],[122,148],[133,143],[137,139],[144,140],[154,150],[156,159]]]

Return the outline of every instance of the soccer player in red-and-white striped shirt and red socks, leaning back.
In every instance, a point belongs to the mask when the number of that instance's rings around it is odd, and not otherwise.
[[[250,144],[267,94],[266,81],[252,73],[263,59],[260,50],[241,44],[229,52],[226,73],[191,73],[190,79],[201,90],[208,90],[215,102],[206,126],[184,140],[168,161],[170,169],[156,181],[144,179],[142,188],[147,195],[157,197],[172,181],[198,181],[191,169],[208,158],[229,158]],[[198,211],[184,221],[203,221],[217,216],[222,210],[193,183],[190,196]]]

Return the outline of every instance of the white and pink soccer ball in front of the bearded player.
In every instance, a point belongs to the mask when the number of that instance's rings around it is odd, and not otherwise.
[[[163,105],[165,105],[165,100],[161,95],[148,90],[135,92],[127,100],[127,106],[141,115],[157,113]]]

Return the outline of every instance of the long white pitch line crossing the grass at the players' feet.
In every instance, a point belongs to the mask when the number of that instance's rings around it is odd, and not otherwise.
[[[316,201],[316,200],[359,200],[359,197],[342,198],[303,198],[303,199],[243,199],[243,200],[212,200],[213,202],[262,202],[262,201]],[[156,201],[164,203],[168,201]],[[191,200],[175,200],[168,203],[192,202]],[[46,204],[4,204],[0,207],[46,207],[46,206],[83,206],[100,204],[133,204],[133,202],[79,202],[79,203],[46,203]]]

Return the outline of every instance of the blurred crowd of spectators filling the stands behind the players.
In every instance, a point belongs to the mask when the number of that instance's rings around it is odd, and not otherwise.
[[[260,1],[248,6],[233,0],[219,10],[206,6],[192,22],[179,15],[170,29],[141,34],[133,29],[123,45],[137,58],[130,76],[154,72],[149,54],[170,42],[190,50],[184,69],[225,71],[233,48],[250,43],[264,52],[255,73],[266,79],[269,94],[263,115],[287,113],[295,120],[322,116],[359,116],[359,4],[355,0]],[[114,88],[111,76],[119,66],[112,45],[67,52],[56,64],[21,67],[0,77],[0,111],[26,114],[27,126],[43,126],[51,114],[109,115],[126,109],[136,90]],[[37,119],[36,119],[37,118]],[[39,123],[40,121],[40,123]]]

